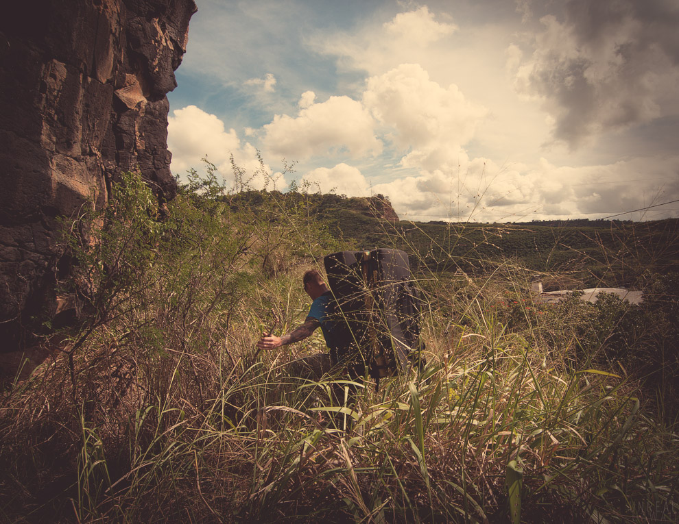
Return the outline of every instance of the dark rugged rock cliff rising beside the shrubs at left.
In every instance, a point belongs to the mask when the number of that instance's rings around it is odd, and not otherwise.
[[[58,217],[106,205],[121,171],[162,201],[166,94],[193,0],[18,0],[0,16],[0,351],[64,307]],[[66,306],[67,307],[67,306]]]

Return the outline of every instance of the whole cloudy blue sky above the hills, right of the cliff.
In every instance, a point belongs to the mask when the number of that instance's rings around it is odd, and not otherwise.
[[[196,4],[180,177],[207,158],[229,188],[382,194],[422,222],[679,217],[676,0]]]

